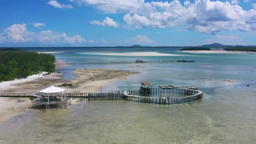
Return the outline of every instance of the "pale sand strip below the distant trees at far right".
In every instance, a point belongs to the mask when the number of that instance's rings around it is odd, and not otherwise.
[[[232,53],[232,54],[256,54],[256,52],[249,51],[225,51],[225,50],[211,50],[211,51],[181,51],[189,53]]]

